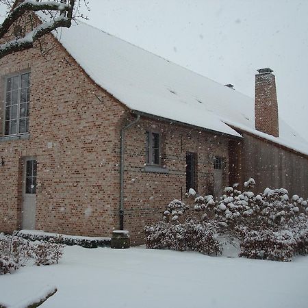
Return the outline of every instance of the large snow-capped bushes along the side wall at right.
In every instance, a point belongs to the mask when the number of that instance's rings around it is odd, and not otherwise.
[[[290,261],[308,254],[308,201],[289,196],[284,188],[254,194],[254,186],[255,180],[248,179],[244,192],[227,187],[218,201],[186,194],[194,200],[190,207],[172,201],[165,222],[145,228],[146,245],[211,255],[221,251],[217,235],[226,235],[240,241],[243,257]]]

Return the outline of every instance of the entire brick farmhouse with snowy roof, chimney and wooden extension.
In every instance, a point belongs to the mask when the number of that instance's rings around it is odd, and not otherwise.
[[[53,49],[0,60],[0,231],[38,229],[134,244],[189,188],[308,197],[308,145],[279,118],[275,77],[253,99],[80,22]]]

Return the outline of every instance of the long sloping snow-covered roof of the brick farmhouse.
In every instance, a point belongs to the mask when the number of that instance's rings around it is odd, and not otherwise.
[[[251,97],[82,21],[58,39],[91,79],[131,110],[239,137],[232,128],[238,127],[308,155],[307,142],[281,119],[279,138],[255,129]]]

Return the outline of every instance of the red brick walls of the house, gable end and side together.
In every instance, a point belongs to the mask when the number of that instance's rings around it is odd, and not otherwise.
[[[30,72],[29,134],[7,138],[3,133],[1,97],[0,167],[1,230],[21,229],[23,159],[38,161],[36,229],[110,236],[119,227],[120,129],[133,118],[110,94],[84,73],[62,46],[51,55],[38,49],[0,60],[1,96],[5,77]],[[166,172],[146,172],[146,130],[162,136]],[[20,138],[20,139],[18,139]],[[197,153],[198,191],[213,190],[213,157],[224,158],[223,182],[228,183],[228,139],[214,133],[170,125],[142,117],[125,134],[125,229],[132,242],[142,242],[145,224],[160,218],[172,198],[185,193],[185,155]]]

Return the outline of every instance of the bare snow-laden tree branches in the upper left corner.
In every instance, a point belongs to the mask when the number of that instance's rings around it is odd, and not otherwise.
[[[81,2],[88,9],[86,0],[0,0],[10,11],[0,25],[0,59],[33,47],[51,31],[69,28],[74,18],[84,17],[79,13]]]

